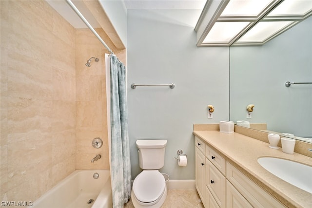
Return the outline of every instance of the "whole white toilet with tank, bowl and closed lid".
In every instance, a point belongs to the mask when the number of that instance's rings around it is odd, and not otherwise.
[[[143,169],[135,178],[131,190],[135,208],[160,208],[167,197],[164,176],[159,172],[165,164],[167,140],[137,140],[139,166]]]

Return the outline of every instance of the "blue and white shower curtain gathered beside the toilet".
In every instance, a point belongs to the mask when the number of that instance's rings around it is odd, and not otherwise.
[[[111,127],[110,168],[113,191],[113,208],[122,208],[123,204],[128,202],[129,198],[131,197],[131,167],[128,136],[126,68],[116,56],[110,55],[109,57],[109,112]],[[108,65],[108,63],[106,65]]]

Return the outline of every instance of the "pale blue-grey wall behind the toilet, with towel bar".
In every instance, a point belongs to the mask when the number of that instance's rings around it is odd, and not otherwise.
[[[229,48],[196,47],[194,26],[182,23],[196,10],[128,10],[127,76],[132,177],[138,166],[137,139],[167,139],[165,166],[170,179],[195,179],[195,123],[229,119]],[[169,84],[137,87],[137,84]],[[215,106],[208,119],[207,106]],[[177,166],[177,150],[188,155]]]

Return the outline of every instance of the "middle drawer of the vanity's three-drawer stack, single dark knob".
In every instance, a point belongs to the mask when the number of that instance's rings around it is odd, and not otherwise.
[[[206,186],[220,208],[225,208],[225,176],[206,158]]]

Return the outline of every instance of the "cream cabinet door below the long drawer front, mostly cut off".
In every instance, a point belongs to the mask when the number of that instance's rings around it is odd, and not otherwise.
[[[226,208],[253,208],[228,180],[226,180]]]

